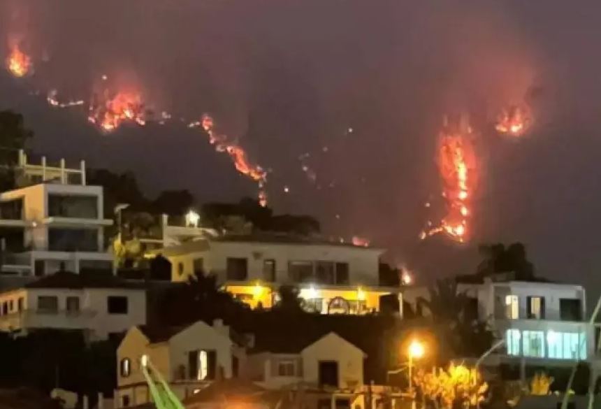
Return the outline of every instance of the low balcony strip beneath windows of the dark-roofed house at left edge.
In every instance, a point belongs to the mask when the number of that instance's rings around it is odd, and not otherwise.
[[[0,331],[88,329],[96,311],[25,310],[0,316]]]

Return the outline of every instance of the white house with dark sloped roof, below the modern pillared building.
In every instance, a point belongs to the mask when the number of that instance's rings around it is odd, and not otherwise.
[[[97,340],[145,322],[143,285],[107,273],[59,271],[0,293],[0,331],[80,330]]]

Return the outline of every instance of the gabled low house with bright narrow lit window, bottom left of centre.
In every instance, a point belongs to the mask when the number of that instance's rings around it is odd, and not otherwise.
[[[215,320],[187,327],[133,327],[117,349],[115,407],[150,402],[140,360],[146,355],[179,399],[191,396],[216,379],[237,378],[245,359],[236,334]]]

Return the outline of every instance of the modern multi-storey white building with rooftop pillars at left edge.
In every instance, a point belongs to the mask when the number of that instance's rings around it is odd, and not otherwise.
[[[113,271],[104,228],[113,224],[103,213],[103,188],[87,186],[85,164],[79,169],[28,164],[20,153],[21,185],[0,194],[3,273],[46,275],[59,270]]]

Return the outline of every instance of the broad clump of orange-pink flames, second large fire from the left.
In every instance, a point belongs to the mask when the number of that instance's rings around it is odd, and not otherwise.
[[[90,106],[88,120],[105,132],[114,131],[124,122],[145,125],[142,98],[136,92],[118,92],[112,98],[105,93],[103,101]]]

